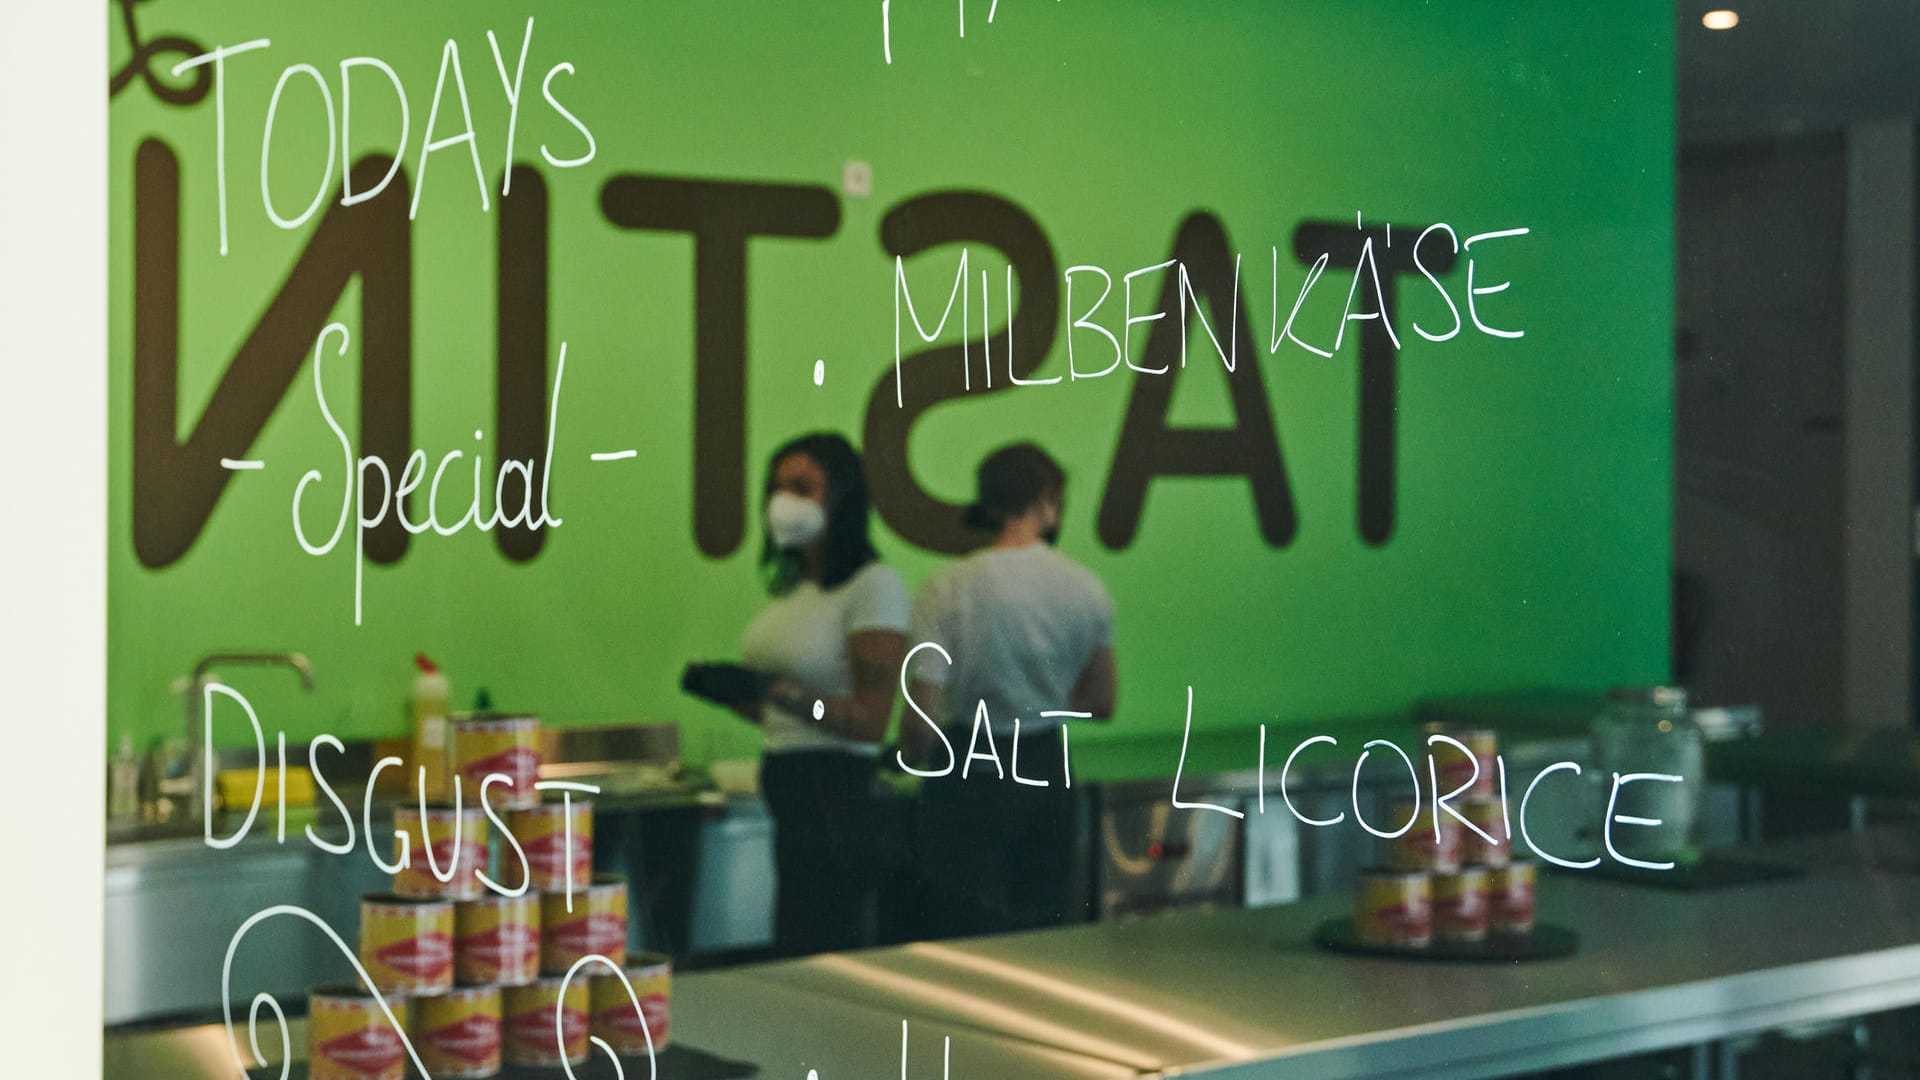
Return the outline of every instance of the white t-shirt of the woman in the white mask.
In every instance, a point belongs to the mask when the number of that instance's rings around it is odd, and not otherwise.
[[[747,625],[741,636],[741,663],[793,678],[835,698],[852,694],[852,657],[847,636],[860,630],[906,632],[906,584],[899,571],[872,561],[837,588],[803,580],[787,596],[776,598]],[[797,717],[772,703],[762,717],[766,753],[789,749],[843,749],[879,753],[877,742],[858,742],[824,732],[812,715]]]

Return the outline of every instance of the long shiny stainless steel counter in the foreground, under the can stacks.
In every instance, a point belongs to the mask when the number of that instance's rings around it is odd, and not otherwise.
[[[1740,1036],[1920,1003],[1920,832],[1753,853],[1803,872],[1699,892],[1546,874],[1540,919],[1580,938],[1561,959],[1331,953],[1311,936],[1344,909],[1325,897],[693,972],[674,982],[672,1032],[793,1080],[1475,1078],[1676,1047],[1726,1061]],[[244,1015],[234,1036],[113,1032],[108,1074],[234,1076]],[[271,1065],[275,1038],[267,1024]]]

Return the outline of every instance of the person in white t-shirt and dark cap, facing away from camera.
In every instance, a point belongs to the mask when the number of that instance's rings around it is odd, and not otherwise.
[[[935,936],[1089,911],[1075,888],[1085,828],[1060,724],[1114,715],[1114,601],[1054,550],[1064,490],[1060,465],[1039,446],[991,454],[968,525],[993,540],[935,571],[914,598],[900,765],[929,776],[920,832]]]

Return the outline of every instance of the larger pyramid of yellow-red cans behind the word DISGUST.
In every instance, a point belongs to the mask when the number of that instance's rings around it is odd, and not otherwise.
[[[407,865],[392,894],[361,897],[361,965],[420,1063],[451,1080],[493,1076],[503,1063],[580,1065],[589,1034],[618,1055],[645,1057],[649,1032],[651,1047],[664,1047],[672,965],[659,953],[628,965],[626,880],[593,872],[591,803],[534,790],[538,721],[468,721],[457,732],[461,776],[474,786],[524,769],[528,748],[534,757],[530,778],[515,776],[503,799],[488,794],[507,811],[499,838],[480,805],[397,809],[394,863]],[[526,890],[501,896],[522,865]],[[589,955],[620,965],[634,995],[605,965],[568,980]],[[307,1007],[313,1080],[405,1076],[399,1034],[365,986],[315,990]]]

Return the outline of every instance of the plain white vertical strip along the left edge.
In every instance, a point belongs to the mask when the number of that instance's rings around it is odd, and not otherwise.
[[[10,1076],[100,1074],[106,4],[10,10],[0,63],[0,990]]]

